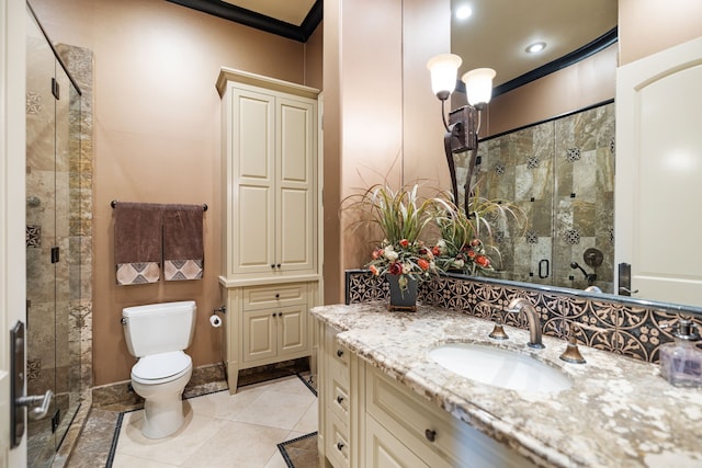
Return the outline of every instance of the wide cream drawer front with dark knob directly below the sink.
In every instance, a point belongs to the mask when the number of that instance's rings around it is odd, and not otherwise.
[[[366,410],[432,467],[534,466],[370,366],[366,366]]]

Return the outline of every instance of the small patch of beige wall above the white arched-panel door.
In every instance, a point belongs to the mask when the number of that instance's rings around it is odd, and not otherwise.
[[[700,0],[619,0],[620,66],[701,35]]]

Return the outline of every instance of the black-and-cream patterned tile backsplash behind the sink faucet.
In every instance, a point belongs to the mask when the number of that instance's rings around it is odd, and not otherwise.
[[[347,304],[387,300],[389,288],[385,278],[364,270],[346,273]],[[676,321],[677,315],[659,309],[633,307],[608,297],[546,292],[539,287],[495,284],[479,278],[440,276],[419,288],[419,301],[426,305],[462,310],[488,320],[529,329],[523,312],[507,313],[500,309],[516,297],[525,297],[541,313],[544,334],[565,339],[569,323],[577,324],[580,343],[633,358],[658,362],[660,344],[672,341],[664,326]],[[392,313],[392,312],[388,312]],[[694,318],[702,327],[702,319]]]

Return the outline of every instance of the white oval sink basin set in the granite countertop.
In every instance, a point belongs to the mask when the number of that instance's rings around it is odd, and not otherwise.
[[[494,387],[558,392],[573,386],[573,381],[558,369],[529,355],[500,347],[450,343],[434,347],[429,356],[462,377]]]

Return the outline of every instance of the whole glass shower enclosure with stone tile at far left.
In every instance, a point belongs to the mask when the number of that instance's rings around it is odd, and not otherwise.
[[[81,396],[81,102],[31,9],[26,39],[27,395],[55,396],[45,418],[27,421],[27,463],[46,467]]]

